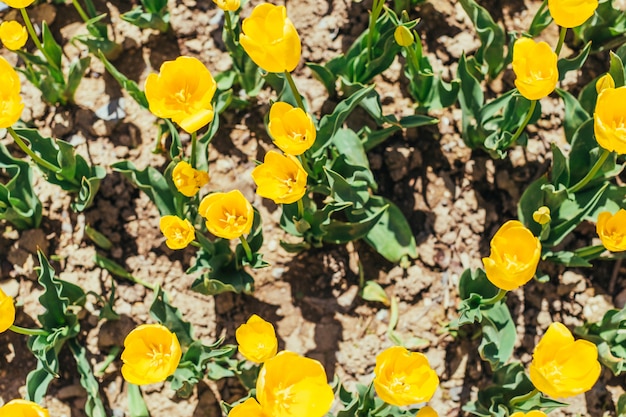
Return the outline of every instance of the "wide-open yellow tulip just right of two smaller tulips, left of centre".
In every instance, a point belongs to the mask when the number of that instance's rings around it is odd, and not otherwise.
[[[254,211],[239,190],[213,193],[202,199],[198,213],[206,219],[206,227],[215,236],[236,239],[250,233]]]

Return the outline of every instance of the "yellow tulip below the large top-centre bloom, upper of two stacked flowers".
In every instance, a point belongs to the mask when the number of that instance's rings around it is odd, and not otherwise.
[[[299,107],[277,101],[270,109],[267,130],[274,143],[289,155],[300,155],[313,146],[317,132],[313,119]]]

